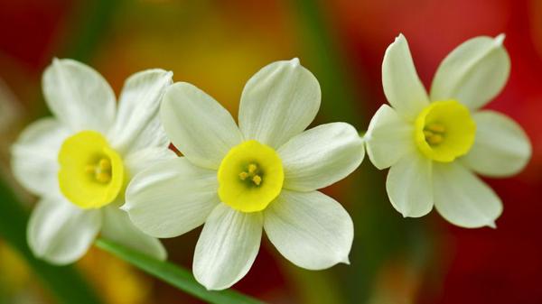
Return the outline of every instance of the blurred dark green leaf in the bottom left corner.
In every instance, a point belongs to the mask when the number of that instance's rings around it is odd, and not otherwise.
[[[36,259],[26,244],[28,212],[14,193],[0,180],[0,237],[17,250],[33,272],[51,290],[58,303],[99,304],[101,301],[83,277],[71,266],[52,266]],[[9,273],[5,274],[9,275]]]

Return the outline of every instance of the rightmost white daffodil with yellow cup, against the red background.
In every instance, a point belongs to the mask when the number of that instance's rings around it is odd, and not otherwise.
[[[388,197],[403,216],[425,216],[435,205],[454,225],[495,226],[500,198],[473,172],[510,176],[531,153],[518,124],[480,109],[509,77],[503,40],[504,35],[477,37],[457,47],[436,71],[429,96],[405,37],[388,47],[382,82],[392,107],[380,106],[366,143],[378,169],[391,167]]]

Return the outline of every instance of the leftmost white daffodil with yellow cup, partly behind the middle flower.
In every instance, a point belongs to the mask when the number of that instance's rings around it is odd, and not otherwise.
[[[172,73],[149,69],[126,80],[119,105],[97,71],[74,60],[53,60],[43,74],[55,117],[28,126],[14,143],[14,176],[41,197],[27,230],[33,253],[72,263],[101,231],[105,238],[156,258],[166,252],[118,207],[126,184],[155,161],[172,159],[158,120]]]

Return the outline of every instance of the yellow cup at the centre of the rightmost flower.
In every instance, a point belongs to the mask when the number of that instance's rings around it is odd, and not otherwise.
[[[416,145],[434,161],[450,162],[466,154],[475,134],[469,109],[455,100],[435,101],[416,117]]]

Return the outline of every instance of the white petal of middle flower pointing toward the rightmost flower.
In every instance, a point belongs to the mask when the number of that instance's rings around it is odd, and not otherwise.
[[[312,191],[344,179],[360,166],[364,150],[350,124],[322,124],[285,143],[279,150],[286,189]]]

